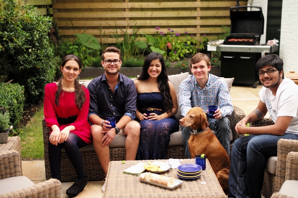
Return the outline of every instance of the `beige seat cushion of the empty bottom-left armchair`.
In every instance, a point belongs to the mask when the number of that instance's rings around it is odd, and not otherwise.
[[[8,177],[0,180],[0,195],[12,191],[34,186],[34,183],[25,176]]]

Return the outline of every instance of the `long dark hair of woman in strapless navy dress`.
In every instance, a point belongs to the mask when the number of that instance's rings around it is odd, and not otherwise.
[[[141,76],[138,78],[138,80],[147,80],[149,78],[148,74],[148,68],[150,66],[150,63],[152,60],[158,59],[161,64],[161,72],[157,77],[157,83],[158,83],[158,90],[161,93],[161,96],[163,98],[163,110],[167,113],[172,113],[173,108],[173,101],[170,94],[170,88],[168,83],[168,77],[166,73],[165,63],[162,55],[157,52],[151,52],[146,57],[143,65],[143,70]]]

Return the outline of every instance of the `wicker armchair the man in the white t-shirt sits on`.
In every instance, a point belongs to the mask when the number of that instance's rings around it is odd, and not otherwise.
[[[254,123],[250,123],[249,126],[266,126],[272,125],[274,122],[270,118],[263,118]],[[261,195],[265,198],[270,198],[275,192],[281,189],[282,184],[285,182],[286,175],[286,159],[290,151],[298,150],[298,141],[280,139],[277,143],[277,165],[276,174],[273,175],[265,169],[264,182]]]

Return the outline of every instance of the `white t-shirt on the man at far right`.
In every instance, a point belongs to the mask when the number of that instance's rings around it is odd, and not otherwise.
[[[298,134],[298,85],[285,77],[277,89],[276,96],[265,87],[260,90],[259,95],[261,101],[266,104],[273,122],[275,123],[280,116],[292,116],[286,133]]]

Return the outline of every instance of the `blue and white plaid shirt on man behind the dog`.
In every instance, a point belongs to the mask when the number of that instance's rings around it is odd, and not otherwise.
[[[199,106],[207,112],[209,105],[217,105],[222,111],[222,117],[231,115],[233,111],[227,84],[213,74],[208,74],[208,81],[204,89],[198,85],[194,75],[183,80],[179,88],[179,105],[183,116],[186,116],[187,111],[195,106]]]

